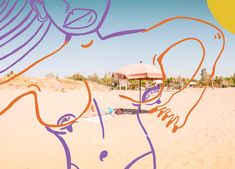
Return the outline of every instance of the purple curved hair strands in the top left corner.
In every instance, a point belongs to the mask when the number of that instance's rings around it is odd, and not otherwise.
[[[4,50],[5,45],[14,42],[17,37],[25,36],[21,34],[27,30],[32,30],[33,33],[32,36],[29,34],[28,37],[23,37],[25,42],[22,42],[22,44],[19,46],[15,46],[15,48],[11,49],[9,53],[5,53],[3,56],[0,56],[1,62],[13,55],[17,56],[15,60],[11,61],[9,65],[6,65],[6,67],[2,66],[0,68],[0,74],[9,70],[14,65],[23,60],[26,56],[28,56],[42,42],[51,26],[50,20],[47,19],[41,21],[39,19],[37,12],[29,4],[31,0],[24,0],[24,3],[20,2],[21,1],[16,0],[15,3],[11,5],[8,0],[0,12],[0,16],[5,14],[5,16],[0,19],[0,47],[2,50]],[[16,5],[18,4],[21,7],[19,9],[15,9]],[[28,9],[29,7],[30,9]],[[12,16],[13,10],[17,11],[14,16]],[[1,13],[3,13],[3,15]],[[6,23],[3,22],[5,20]],[[32,42],[36,38],[38,38],[38,40]],[[28,47],[28,49],[22,54],[22,50],[26,47]]]

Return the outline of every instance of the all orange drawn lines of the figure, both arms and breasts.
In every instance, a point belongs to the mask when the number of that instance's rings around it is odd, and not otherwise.
[[[130,97],[128,97],[128,96],[119,95],[120,97],[122,97],[122,98],[124,98],[124,99],[130,100],[130,101],[135,102],[135,103],[140,103],[140,104],[148,103],[148,102],[150,102],[150,101],[153,101],[154,99],[157,99],[159,96],[161,96],[161,94],[162,94],[162,92],[163,92],[163,89],[164,89],[164,86],[165,86],[165,80],[166,80],[166,75],[165,75],[165,71],[164,71],[163,64],[162,64],[162,60],[163,60],[164,56],[167,54],[167,52],[168,52],[169,50],[171,50],[173,47],[175,47],[176,45],[178,45],[178,44],[180,44],[180,43],[182,43],[182,42],[184,42],[184,41],[188,41],[188,40],[197,41],[197,42],[201,45],[201,47],[202,47],[203,56],[202,56],[202,59],[201,59],[199,65],[198,65],[196,71],[194,72],[193,76],[191,77],[190,81],[189,81],[182,89],[180,89],[179,91],[173,93],[173,94],[171,95],[171,97],[168,99],[168,101],[166,101],[163,105],[156,106],[155,108],[152,108],[152,109],[149,111],[149,113],[154,113],[154,112],[156,112],[156,111],[160,111],[160,113],[158,114],[158,117],[160,117],[163,113],[165,113],[165,115],[164,115],[164,117],[162,118],[162,120],[165,120],[166,118],[171,117],[171,120],[167,123],[167,127],[168,127],[174,120],[176,120],[176,122],[175,122],[175,124],[174,124],[174,128],[173,128],[173,130],[172,130],[173,132],[176,132],[177,129],[182,128],[182,127],[186,124],[189,115],[191,114],[191,112],[193,111],[193,109],[194,109],[194,108],[198,105],[198,103],[200,102],[202,96],[204,95],[204,93],[205,93],[205,91],[206,91],[206,89],[207,89],[207,86],[208,86],[209,81],[210,81],[210,80],[212,79],[212,77],[214,76],[216,64],[217,64],[219,58],[221,57],[221,55],[222,55],[222,53],[223,53],[223,50],[224,50],[224,47],[225,47],[225,37],[224,37],[223,32],[222,32],[218,27],[216,27],[215,25],[213,25],[213,24],[211,24],[211,23],[209,23],[209,22],[207,22],[207,21],[204,21],[204,20],[201,20],[201,19],[197,19],[197,18],[184,17],[184,16],[177,16],[177,17],[168,18],[168,19],[163,20],[163,21],[159,22],[158,24],[156,24],[156,25],[154,25],[154,26],[152,26],[152,27],[150,27],[150,28],[144,30],[143,33],[148,32],[148,31],[151,31],[152,29],[155,29],[155,28],[157,28],[157,27],[159,27],[159,26],[161,26],[161,25],[163,25],[163,24],[165,24],[165,23],[168,23],[168,22],[171,22],[171,21],[177,20],[177,19],[184,19],[184,20],[190,20],[190,21],[197,21],[197,22],[200,22],[200,23],[209,25],[209,26],[215,28],[215,29],[219,32],[219,33],[217,33],[217,36],[218,36],[219,39],[222,38],[222,40],[223,40],[222,48],[221,48],[220,53],[218,54],[218,56],[217,56],[217,58],[216,58],[216,60],[215,60],[215,62],[214,62],[214,64],[213,64],[212,73],[211,73],[211,75],[210,75],[210,77],[209,77],[209,79],[208,79],[208,82],[206,83],[206,86],[205,86],[205,88],[203,89],[203,91],[202,91],[202,93],[201,93],[199,99],[196,101],[196,103],[192,106],[192,108],[191,108],[191,109],[189,110],[189,112],[187,113],[183,124],[182,124],[181,126],[176,126],[176,124],[177,124],[177,122],[178,122],[178,120],[179,120],[179,116],[174,117],[174,114],[168,115],[168,113],[171,112],[170,109],[166,109],[166,107],[163,107],[163,108],[160,108],[160,109],[159,109],[159,107],[162,107],[162,106],[166,105],[167,103],[169,103],[175,94],[177,94],[177,93],[181,92],[182,90],[184,90],[184,89],[186,88],[186,86],[194,79],[194,77],[195,77],[196,74],[198,73],[198,71],[199,71],[199,69],[200,69],[200,67],[201,67],[201,65],[202,65],[202,62],[203,62],[203,60],[204,60],[204,58],[205,58],[206,51],[205,51],[205,47],[203,46],[203,43],[202,43],[199,39],[197,39],[197,38],[185,38],[185,39],[182,39],[182,40],[180,40],[180,41],[174,43],[174,44],[171,45],[170,47],[168,47],[168,48],[158,57],[157,61],[158,61],[159,65],[160,65],[160,69],[161,69],[162,74],[163,74],[163,84],[162,84],[162,88],[160,89],[159,93],[158,93],[156,96],[154,96],[154,97],[151,98],[151,99],[148,99],[147,101],[140,102],[140,101],[134,100],[134,99],[132,99],[132,98],[130,98]],[[41,59],[39,59],[39,60],[37,60],[36,62],[34,62],[34,63],[31,64],[30,66],[28,66],[27,68],[25,68],[24,70],[22,70],[21,72],[15,74],[15,75],[12,76],[11,78],[9,78],[9,79],[7,79],[7,80],[5,80],[5,81],[3,81],[3,82],[0,82],[0,85],[9,82],[10,80],[12,80],[12,79],[18,77],[19,75],[25,73],[26,71],[28,71],[29,69],[31,69],[32,67],[34,67],[35,65],[37,65],[38,63],[40,63],[40,62],[44,61],[45,59],[51,57],[52,55],[54,55],[55,53],[57,53],[58,51],[60,51],[67,43],[68,43],[68,42],[65,41],[65,42],[63,43],[63,45],[60,46],[57,50],[53,51],[53,52],[50,53],[49,55],[46,55],[45,57],[43,57],[43,58],[41,58]],[[93,44],[93,40],[90,41],[90,42],[89,42],[88,44],[86,44],[86,45],[82,45],[82,47],[88,48],[88,47],[90,47],[92,44]],[[153,57],[153,60],[152,60],[152,61],[153,61],[153,64],[155,64],[155,60],[156,60],[156,55]],[[41,119],[41,117],[40,117],[40,112],[39,112],[39,108],[38,108],[37,93],[36,93],[35,91],[26,92],[26,93],[24,93],[24,94],[18,96],[17,98],[15,98],[4,110],[2,110],[2,111],[0,112],[0,115],[4,114],[8,109],[10,109],[10,108],[11,108],[17,101],[19,101],[22,97],[32,94],[32,95],[34,96],[34,100],[35,100],[36,116],[37,116],[38,121],[39,121],[42,125],[47,126],[47,127],[63,127],[63,126],[66,126],[66,125],[70,125],[70,124],[74,123],[77,119],[79,119],[80,117],[82,117],[82,115],[87,111],[87,109],[88,109],[88,108],[90,107],[90,105],[91,105],[91,91],[90,91],[90,88],[89,88],[89,86],[88,86],[88,84],[87,84],[86,81],[85,81],[85,85],[86,85],[86,88],[87,88],[87,90],[88,90],[88,97],[89,97],[86,108],[83,110],[83,112],[82,112],[76,119],[74,119],[74,120],[72,120],[72,121],[70,121],[70,122],[67,122],[67,123],[65,123],[65,124],[61,124],[61,125],[47,124],[47,123],[45,123],[45,122]],[[30,85],[29,87],[31,87],[31,86],[37,87],[37,89],[40,91],[40,88],[39,88],[37,85]],[[166,109],[166,110],[164,110],[164,109]]]

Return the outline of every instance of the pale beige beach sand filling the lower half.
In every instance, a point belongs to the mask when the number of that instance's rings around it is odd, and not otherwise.
[[[0,110],[27,90],[0,89]],[[177,112],[181,119],[185,117],[181,107],[199,91],[188,89],[185,96],[173,101],[174,112],[182,111]],[[138,91],[93,90],[92,93],[100,109],[108,106],[135,109],[131,102],[118,96],[120,93],[138,98]],[[171,93],[164,92],[162,100]],[[65,113],[79,115],[88,99],[84,87],[64,93],[42,91],[38,98],[41,117],[47,123],[55,123]],[[37,121],[33,103],[33,97],[27,96],[0,116],[0,168],[66,169],[63,147]],[[140,115],[155,148],[158,169],[234,169],[234,116],[235,88],[208,89],[185,127],[174,134],[172,126],[166,128],[166,122],[161,121],[157,113]],[[63,136],[70,147],[72,162],[79,168],[124,168],[134,158],[150,151],[135,114],[110,115],[103,121],[104,139],[101,125],[95,118],[79,119],[73,125],[73,132]],[[99,156],[103,150],[108,151],[108,156],[102,162]],[[133,168],[152,169],[151,156],[138,161]]]

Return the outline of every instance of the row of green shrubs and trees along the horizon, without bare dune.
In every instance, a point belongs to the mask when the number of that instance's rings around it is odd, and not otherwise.
[[[207,73],[206,68],[202,68],[200,73],[200,79],[199,80],[193,80],[193,82],[196,83],[196,87],[204,87],[208,83],[208,79],[210,77],[210,74]],[[85,77],[79,73],[76,73],[69,77],[70,79],[73,79],[75,81],[83,81],[84,79],[88,81],[92,81],[113,89],[118,88],[119,80],[112,77],[111,73],[105,74],[103,77],[99,77],[96,73]],[[165,86],[169,89],[180,89],[185,84],[187,84],[190,81],[190,78],[186,77],[169,77],[165,81]],[[142,80],[141,81],[142,86],[152,86],[153,81],[151,80]],[[226,88],[226,87],[235,87],[235,73],[230,77],[222,77],[222,76],[215,76],[212,80],[209,81],[208,84],[209,87],[215,87],[215,88]],[[128,89],[138,89],[139,87],[139,80],[129,80],[128,83]]]

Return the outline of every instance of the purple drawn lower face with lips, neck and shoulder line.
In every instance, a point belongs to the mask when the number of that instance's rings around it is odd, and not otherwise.
[[[53,4],[49,1],[42,1],[43,8],[48,18],[50,18],[57,29],[65,34],[66,41],[69,41],[72,36],[81,36],[91,33],[97,33],[101,40],[105,40],[145,30],[135,29],[120,31],[106,36],[101,35],[99,30],[108,15],[110,4],[111,0],[99,0],[99,5],[93,1],[89,3],[89,0],[81,0],[79,2],[60,0],[57,5],[59,5],[61,12],[64,11],[64,14],[61,14],[60,18],[58,18],[58,11],[55,10]]]

